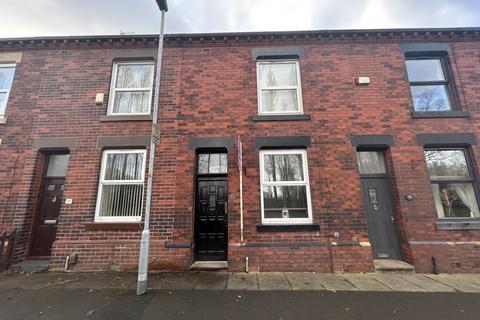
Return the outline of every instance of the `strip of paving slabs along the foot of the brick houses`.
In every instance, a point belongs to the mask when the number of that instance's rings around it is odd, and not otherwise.
[[[2,289],[134,290],[136,273],[43,272],[0,275]],[[150,290],[383,291],[480,293],[480,274],[178,272],[150,274]]]

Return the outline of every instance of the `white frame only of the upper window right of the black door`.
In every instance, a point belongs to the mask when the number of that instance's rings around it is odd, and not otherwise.
[[[260,85],[260,65],[272,65],[272,64],[291,64],[295,63],[297,72],[297,85],[296,86],[277,86],[277,87],[262,87]],[[262,91],[270,90],[292,90],[297,91],[297,111],[263,111]],[[302,81],[300,77],[300,63],[298,60],[260,60],[257,61],[257,100],[258,100],[258,114],[259,115],[284,115],[284,114],[303,114],[303,98],[302,98]]]

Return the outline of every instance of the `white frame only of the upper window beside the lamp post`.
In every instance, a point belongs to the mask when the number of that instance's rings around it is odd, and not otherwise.
[[[118,67],[124,65],[139,65],[145,64],[150,65],[152,68],[152,76],[150,79],[150,86],[145,88],[117,88],[117,74],[118,74]],[[153,78],[155,72],[155,63],[153,61],[118,61],[113,64],[113,74],[112,74],[112,81],[110,83],[110,98],[108,99],[108,116],[125,116],[125,115],[149,115],[152,109],[152,96],[153,96]],[[112,112],[113,106],[115,104],[115,94],[118,92],[149,92],[148,98],[148,109],[147,112]]]

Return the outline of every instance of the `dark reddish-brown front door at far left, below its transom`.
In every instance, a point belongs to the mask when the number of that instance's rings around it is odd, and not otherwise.
[[[33,230],[31,256],[49,256],[57,233],[65,178],[44,178]]]

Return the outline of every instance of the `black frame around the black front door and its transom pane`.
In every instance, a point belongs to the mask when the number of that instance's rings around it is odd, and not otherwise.
[[[200,154],[210,154],[210,153],[225,153],[227,155],[227,173],[198,173],[198,158]],[[227,215],[226,215],[226,234],[225,240],[227,242],[225,248],[225,261],[228,261],[228,212],[229,212],[229,204],[228,204],[228,149],[226,148],[199,148],[195,152],[195,163],[194,163],[194,186],[193,186],[193,234],[192,234],[192,257],[193,261],[207,261],[207,260],[197,260],[197,252],[196,252],[196,231],[197,231],[197,201],[198,201],[198,182],[199,181],[225,181],[227,183],[227,193],[226,193],[226,205],[227,205]]]

